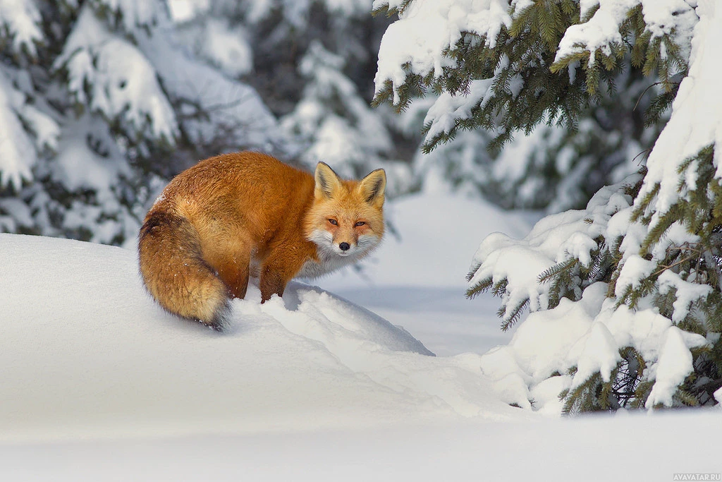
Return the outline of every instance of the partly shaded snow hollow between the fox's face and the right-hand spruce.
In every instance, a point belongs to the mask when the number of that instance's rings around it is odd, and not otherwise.
[[[315,283],[401,325],[440,356],[508,343],[512,332],[499,329],[499,301],[466,299],[466,274],[482,238],[495,231],[523,237],[531,228],[527,216],[441,193],[399,199],[386,211],[396,236],[386,236],[362,272]]]

